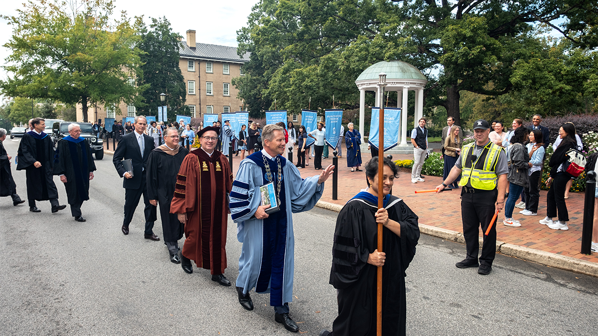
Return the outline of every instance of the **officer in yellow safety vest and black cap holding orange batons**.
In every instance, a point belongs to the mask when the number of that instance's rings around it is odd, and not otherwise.
[[[507,154],[488,139],[490,126],[486,120],[474,123],[475,142],[463,146],[461,155],[451,169],[447,179],[436,187],[440,193],[447,185],[463,173],[459,185],[461,190],[461,218],[463,237],[467,248],[465,260],[457,262],[459,268],[478,267],[480,225],[484,243],[480,256],[478,274],[489,274],[496,255],[496,225],[488,236],[484,236],[492,216],[505,206],[507,190]]]

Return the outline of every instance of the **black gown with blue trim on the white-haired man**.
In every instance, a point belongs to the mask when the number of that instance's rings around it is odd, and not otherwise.
[[[86,139],[61,139],[54,155],[54,175],[65,175],[66,196],[69,204],[89,200],[89,173],[96,170],[91,148]]]

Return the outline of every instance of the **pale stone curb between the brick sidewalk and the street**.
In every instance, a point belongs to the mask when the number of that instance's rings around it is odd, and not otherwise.
[[[325,201],[318,201],[316,206],[335,212],[340,212],[340,209],[343,209],[343,207],[338,204],[328,203]],[[420,224],[419,230],[420,233],[427,234],[428,236],[465,244],[463,233],[457,231],[432,227],[431,225],[425,224]],[[480,245],[482,242],[483,238],[480,237]],[[536,262],[536,264],[541,264],[548,267],[560,268],[566,271],[598,277],[598,264],[595,262],[580,260],[570,256],[539,251],[527,248],[525,246],[517,246],[499,241],[496,242],[496,252],[525,261]]]

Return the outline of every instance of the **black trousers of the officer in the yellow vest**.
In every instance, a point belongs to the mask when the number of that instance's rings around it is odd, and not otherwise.
[[[480,256],[480,264],[492,266],[496,255],[496,223],[488,236],[484,235],[492,216],[495,212],[496,197],[498,190],[479,191],[475,193],[465,193],[465,188],[461,192],[461,218],[463,220],[463,237],[467,248],[467,259],[477,260],[480,252],[480,227],[484,243]]]

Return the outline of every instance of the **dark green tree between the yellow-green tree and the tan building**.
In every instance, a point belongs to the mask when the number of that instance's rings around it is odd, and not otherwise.
[[[141,40],[139,49],[141,54],[141,71],[144,76],[138,78],[140,86],[147,86],[141,96],[143,106],[137,106],[138,111],[146,115],[156,115],[160,102],[160,94],[166,94],[166,105],[170,120],[175,119],[177,111],[185,111],[187,91],[185,80],[179,67],[179,43],[181,35],[172,32],[170,22],[166,17],[152,18],[149,29],[143,26],[139,32]]]

